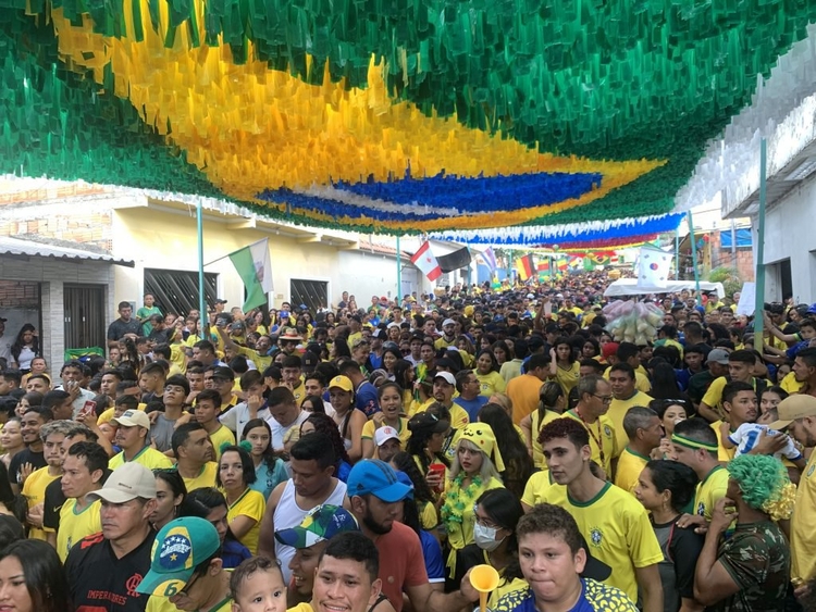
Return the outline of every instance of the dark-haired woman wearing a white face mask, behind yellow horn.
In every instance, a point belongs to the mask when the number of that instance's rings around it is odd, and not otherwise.
[[[518,497],[507,489],[491,489],[477,500],[474,541],[457,553],[454,584],[461,583],[471,567],[492,565],[498,572],[499,583],[487,599],[489,610],[495,610],[496,603],[505,595],[527,586],[520,577],[516,538],[516,525],[523,515],[524,509]]]

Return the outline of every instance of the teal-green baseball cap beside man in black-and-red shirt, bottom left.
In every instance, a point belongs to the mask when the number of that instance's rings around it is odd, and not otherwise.
[[[196,566],[221,548],[221,539],[209,521],[185,516],[171,521],[156,536],[150,571],[137,592],[173,597],[189,583]]]

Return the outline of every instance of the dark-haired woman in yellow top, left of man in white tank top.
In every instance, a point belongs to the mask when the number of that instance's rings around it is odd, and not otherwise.
[[[246,448],[224,448],[215,482],[226,497],[230,530],[252,554],[258,552],[258,534],[267,509],[265,498],[249,488],[255,480],[255,463]]]

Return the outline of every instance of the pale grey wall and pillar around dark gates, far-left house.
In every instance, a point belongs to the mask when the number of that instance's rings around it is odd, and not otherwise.
[[[0,257],[0,278],[5,280],[27,280],[40,283],[42,304],[42,328],[40,341],[42,354],[48,360],[51,373],[58,374],[62,366],[65,350],[65,322],[63,317],[63,287],[67,284],[91,284],[111,287],[113,267],[110,263],[97,261],[62,261],[51,258],[30,258],[27,261]],[[106,330],[112,316],[111,291],[106,291]],[[36,320],[35,320],[36,321]],[[35,323],[37,327],[39,325]],[[17,328],[7,327],[7,334],[16,335]]]

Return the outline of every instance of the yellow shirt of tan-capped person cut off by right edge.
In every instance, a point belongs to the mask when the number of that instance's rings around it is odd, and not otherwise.
[[[791,577],[805,582],[816,577],[816,452],[805,465],[796,488],[796,504],[791,516]]]

